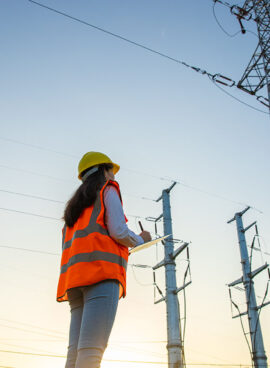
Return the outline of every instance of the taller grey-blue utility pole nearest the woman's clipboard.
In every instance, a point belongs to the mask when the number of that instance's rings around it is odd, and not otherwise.
[[[189,243],[182,244],[177,250],[174,251],[174,243],[172,234],[172,217],[171,217],[171,206],[170,206],[170,191],[176,185],[174,182],[168,189],[162,191],[162,195],[156,200],[159,202],[162,200],[163,214],[160,215],[156,220],[163,217],[163,228],[164,235],[170,235],[164,240],[164,259],[153,267],[153,270],[159,267],[165,267],[165,278],[166,278],[166,295],[160,300],[156,301],[155,304],[162,301],[166,302],[167,312],[167,350],[168,350],[168,367],[169,368],[183,368],[185,367],[184,359],[184,347],[181,333],[181,319],[180,319],[180,308],[178,301],[178,292],[183,290],[189,283],[177,288],[176,285],[176,269],[175,269],[175,258],[188,247]]]

